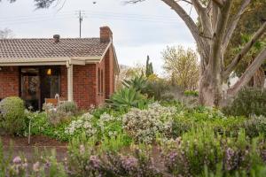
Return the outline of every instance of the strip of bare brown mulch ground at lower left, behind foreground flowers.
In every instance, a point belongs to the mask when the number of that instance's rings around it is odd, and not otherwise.
[[[63,161],[67,155],[67,142],[59,142],[43,135],[32,136],[30,144],[27,143],[27,137],[1,135],[0,140],[4,145],[4,155],[6,156],[8,155],[10,148],[12,148],[13,157],[19,156],[23,153],[29,161],[34,158],[35,150],[38,150],[39,152],[43,150],[56,150],[59,161]]]

